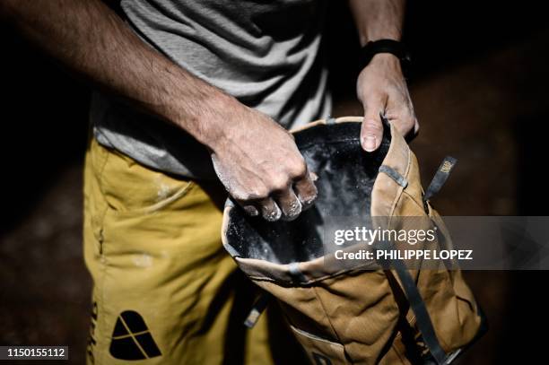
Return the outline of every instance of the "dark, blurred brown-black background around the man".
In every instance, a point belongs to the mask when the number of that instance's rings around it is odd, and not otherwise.
[[[332,1],[326,50],[335,116],[360,115],[357,40]],[[445,215],[547,215],[549,22],[544,2],[411,2],[405,41],[428,183],[459,163],[434,204]],[[70,346],[83,363],[91,280],[82,258],[82,165],[90,91],[0,26],[0,344]],[[468,272],[491,329],[464,364],[540,363],[546,272]],[[537,335],[541,334],[541,335]],[[544,361],[545,362],[545,361]]]

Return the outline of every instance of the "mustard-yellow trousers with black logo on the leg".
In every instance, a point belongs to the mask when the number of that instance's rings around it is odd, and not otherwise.
[[[254,288],[220,239],[205,189],[92,140],[84,256],[92,274],[88,364],[271,364],[266,316],[242,321]],[[296,362],[297,363],[297,362]]]

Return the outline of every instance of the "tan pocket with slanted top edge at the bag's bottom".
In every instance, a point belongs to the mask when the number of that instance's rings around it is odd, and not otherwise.
[[[345,365],[350,362],[345,357],[344,345],[334,343],[317,335],[309,334],[290,325],[293,335],[307,352],[311,363],[315,365]]]

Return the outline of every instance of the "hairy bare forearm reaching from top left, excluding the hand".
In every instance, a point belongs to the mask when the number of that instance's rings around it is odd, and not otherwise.
[[[135,36],[99,0],[2,0],[0,16],[102,91],[209,144],[221,109],[244,108]]]

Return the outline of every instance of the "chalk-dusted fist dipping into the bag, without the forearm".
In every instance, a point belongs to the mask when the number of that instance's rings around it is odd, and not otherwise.
[[[317,188],[293,136],[265,114],[229,109],[215,134],[212,161],[229,194],[250,215],[292,220],[317,197]]]

